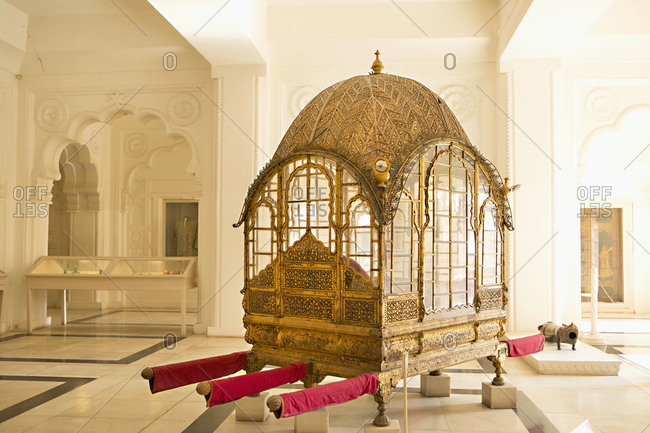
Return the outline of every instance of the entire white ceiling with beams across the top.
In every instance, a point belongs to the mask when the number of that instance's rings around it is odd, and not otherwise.
[[[517,20],[513,10],[525,4],[525,0],[508,4],[507,0],[114,0],[117,5],[112,0],[0,1],[28,15],[21,68],[27,74],[158,70],[167,51],[183,54],[179,68],[191,69],[268,61],[352,62],[359,52],[365,55],[378,48],[395,62],[428,62],[447,52],[465,60],[496,62],[501,32]],[[650,61],[648,0],[534,0],[522,16],[514,23],[516,30],[505,50],[509,58]]]

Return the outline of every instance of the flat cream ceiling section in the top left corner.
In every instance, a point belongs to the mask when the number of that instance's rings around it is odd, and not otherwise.
[[[205,59],[146,0],[7,0],[28,14],[24,74],[209,68]]]

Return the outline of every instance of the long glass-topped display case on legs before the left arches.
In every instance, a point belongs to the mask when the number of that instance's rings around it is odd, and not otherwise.
[[[67,323],[67,290],[178,291],[181,335],[186,335],[187,291],[197,285],[196,257],[57,257],[38,259],[26,274],[27,328],[32,332],[32,290],[60,290]],[[127,295],[128,296],[128,295]]]

